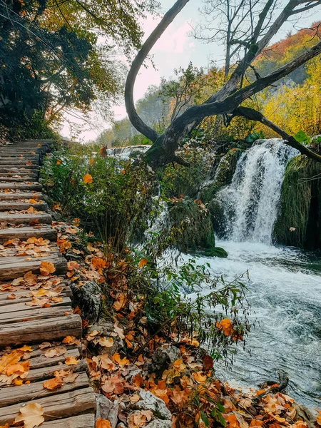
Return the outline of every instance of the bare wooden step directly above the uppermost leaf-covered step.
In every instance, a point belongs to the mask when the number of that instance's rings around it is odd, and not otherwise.
[[[41,227],[24,226],[22,228],[0,229],[0,243],[5,243],[9,239],[19,238],[27,240],[28,238],[44,238],[55,241],[57,232],[49,225],[40,225]]]

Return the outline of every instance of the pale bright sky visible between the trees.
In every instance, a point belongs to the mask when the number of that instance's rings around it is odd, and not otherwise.
[[[161,13],[164,14],[171,6],[175,3],[175,0],[161,0]],[[161,78],[173,77],[173,70],[180,66],[186,68],[190,61],[193,65],[198,67],[207,68],[213,61],[218,65],[223,65],[224,49],[217,43],[203,43],[195,39],[190,33],[202,20],[199,8],[201,6],[200,0],[190,0],[183,10],[176,16],[175,20],[168,26],[168,29],[156,42],[155,46],[151,51],[153,57],[154,66],[151,61],[146,61],[147,67],[142,67],[140,73],[136,78],[134,88],[134,99],[138,101],[146,92],[148,86],[158,85],[161,83]],[[151,31],[156,27],[158,22],[161,20],[161,16],[148,16],[146,20],[142,22],[142,28],[144,31],[144,39],[146,39]],[[313,21],[321,20],[320,9],[317,13],[311,14],[305,17],[305,25],[312,24]],[[302,22],[300,22],[302,26]],[[287,23],[282,31],[277,35],[277,40],[285,37],[288,30],[297,29],[293,23]],[[276,40],[275,40],[276,41]],[[120,105],[113,108],[113,112],[116,120],[120,120],[126,117],[126,108],[124,103],[120,102]],[[81,123],[81,120],[73,121]],[[98,126],[86,126],[86,131],[83,131],[78,136],[78,141],[90,141],[95,140],[99,133],[103,129],[107,129],[111,126],[110,123],[99,123]],[[66,123],[62,130],[61,135],[70,138],[71,132]]]

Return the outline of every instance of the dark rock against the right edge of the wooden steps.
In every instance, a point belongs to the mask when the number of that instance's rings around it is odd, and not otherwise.
[[[101,289],[96,282],[86,282],[82,287],[71,284],[73,305],[81,310],[81,316],[88,322],[96,322],[101,310]]]

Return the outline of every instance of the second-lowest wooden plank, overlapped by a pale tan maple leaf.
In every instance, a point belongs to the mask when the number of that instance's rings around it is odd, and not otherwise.
[[[43,407],[45,422],[96,411],[96,399],[92,388],[76,389],[75,391],[56,394],[53,397],[34,399],[31,402],[39,403]],[[19,415],[20,407],[21,404],[1,407],[0,424],[11,424]]]

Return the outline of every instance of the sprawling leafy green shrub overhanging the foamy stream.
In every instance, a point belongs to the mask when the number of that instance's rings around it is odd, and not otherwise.
[[[175,325],[178,334],[188,332],[206,344],[215,360],[232,361],[230,347],[249,330],[243,275],[225,283],[223,277],[213,278],[208,264],[199,265],[194,259],[176,268],[173,263],[158,265],[157,269],[153,266],[148,263],[131,277],[131,286],[136,284],[144,295],[148,322],[155,326],[153,331],[162,326],[170,334]],[[224,335],[217,326],[227,316],[233,325],[233,335]]]

